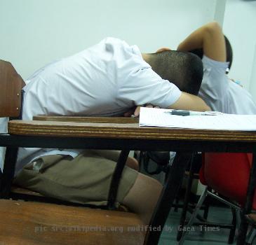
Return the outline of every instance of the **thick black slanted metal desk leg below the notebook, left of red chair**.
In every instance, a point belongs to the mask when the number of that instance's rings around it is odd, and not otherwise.
[[[156,229],[154,232],[149,232],[149,230],[147,230],[144,244],[158,244],[170,208],[175,200],[175,197],[177,196],[177,192],[180,190],[184,172],[189,161],[191,160],[191,155],[192,153],[176,153],[173,164],[171,165],[170,171],[168,172],[166,183],[163,186],[163,191],[159,197],[159,200],[161,201],[156,204],[156,209],[149,224],[149,227],[155,229],[159,228],[160,225],[161,230]]]

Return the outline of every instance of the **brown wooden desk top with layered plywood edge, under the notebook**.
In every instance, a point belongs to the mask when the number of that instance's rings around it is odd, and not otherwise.
[[[44,137],[256,142],[256,132],[139,127],[138,118],[76,118],[83,123],[70,121],[74,117],[65,118],[66,122],[12,120],[8,123],[8,132],[15,135]]]

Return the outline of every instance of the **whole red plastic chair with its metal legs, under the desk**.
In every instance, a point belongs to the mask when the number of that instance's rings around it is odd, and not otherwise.
[[[252,154],[248,153],[203,154],[199,179],[207,188],[198,200],[186,226],[189,227],[194,223],[207,195],[217,198],[234,209],[242,209],[245,204],[251,165]],[[256,196],[254,196],[252,208],[256,209]],[[232,224],[235,223],[236,221],[233,220]],[[234,231],[235,229],[230,232],[229,244],[234,241]],[[184,243],[186,235],[187,232],[182,234],[179,245]]]

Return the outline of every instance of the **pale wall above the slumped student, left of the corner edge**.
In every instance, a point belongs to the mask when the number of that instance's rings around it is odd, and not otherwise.
[[[0,0],[0,59],[23,78],[105,36],[142,52],[176,48],[193,29],[213,20],[224,0]]]

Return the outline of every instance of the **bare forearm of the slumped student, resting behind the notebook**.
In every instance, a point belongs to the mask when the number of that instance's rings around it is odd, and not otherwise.
[[[190,111],[211,111],[210,107],[200,97],[182,92],[180,98],[174,104],[168,106],[168,109],[180,109]]]

